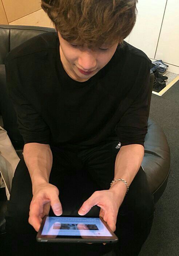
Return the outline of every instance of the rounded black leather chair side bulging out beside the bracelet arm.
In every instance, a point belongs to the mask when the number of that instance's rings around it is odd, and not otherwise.
[[[170,147],[162,129],[150,118],[144,148],[142,167],[150,190],[155,193],[170,171]]]

